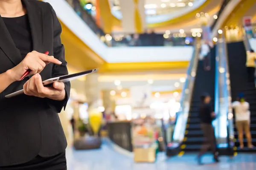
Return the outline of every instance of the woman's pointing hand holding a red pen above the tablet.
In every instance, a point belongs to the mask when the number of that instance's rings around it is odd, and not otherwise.
[[[26,55],[26,57],[14,68],[10,69],[13,81],[19,81],[20,77],[30,69],[29,75],[40,73],[44,67],[50,62],[60,65],[61,62],[55,59],[53,56],[48,56],[37,51],[32,51]]]

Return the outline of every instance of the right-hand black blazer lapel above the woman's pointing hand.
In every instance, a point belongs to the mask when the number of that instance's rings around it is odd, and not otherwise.
[[[29,17],[29,24],[33,40],[33,50],[44,53],[44,29],[43,29],[43,13],[42,9],[38,6],[32,6],[29,0],[22,0],[26,7]]]

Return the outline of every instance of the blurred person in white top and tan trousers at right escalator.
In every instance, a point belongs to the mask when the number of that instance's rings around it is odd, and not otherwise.
[[[232,103],[232,107],[235,110],[236,116],[236,128],[238,130],[238,138],[240,148],[244,148],[244,133],[247,138],[247,145],[249,148],[253,148],[252,138],[250,133],[250,104],[245,101],[244,94],[239,94],[237,101]]]

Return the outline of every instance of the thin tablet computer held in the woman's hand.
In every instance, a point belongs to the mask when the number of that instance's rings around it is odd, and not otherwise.
[[[82,71],[82,72],[75,73],[75,74],[68,74],[68,75],[65,75],[65,76],[54,77],[54,78],[51,78],[51,79],[44,80],[42,83],[43,83],[44,86],[48,86],[48,85],[51,85],[54,82],[70,82],[71,80],[77,79],[77,78],[85,76],[87,74],[95,73],[96,71],[98,71],[98,68],[95,68],[95,69],[92,69],[92,70],[87,70],[87,71]],[[12,94],[8,94],[5,97],[6,98],[11,98],[11,97],[23,94],[23,93],[24,93],[24,91],[22,89],[20,91],[14,92]]]

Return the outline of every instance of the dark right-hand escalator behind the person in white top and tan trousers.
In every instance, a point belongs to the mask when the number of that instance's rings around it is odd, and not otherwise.
[[[251,122],[250,130],[253,145],[256,146],[256,88],[254,83],[247,81],[246,50],[244,42],[227,44],[228,64],[230,68],[230,83],[232,101],[236,101],[239,93],[243,93],[247,102],[250,103]],[[235,115],[234,115],[235,116]],[[236,117],[235,117],[236,119]],[[235,121],[234,121],[235,123]],[[239,152],[255,152],[256,148],[248,149],[247,140],[244,136],[244,149],[239,149],[238,133],[234,125],[235,146]]]

